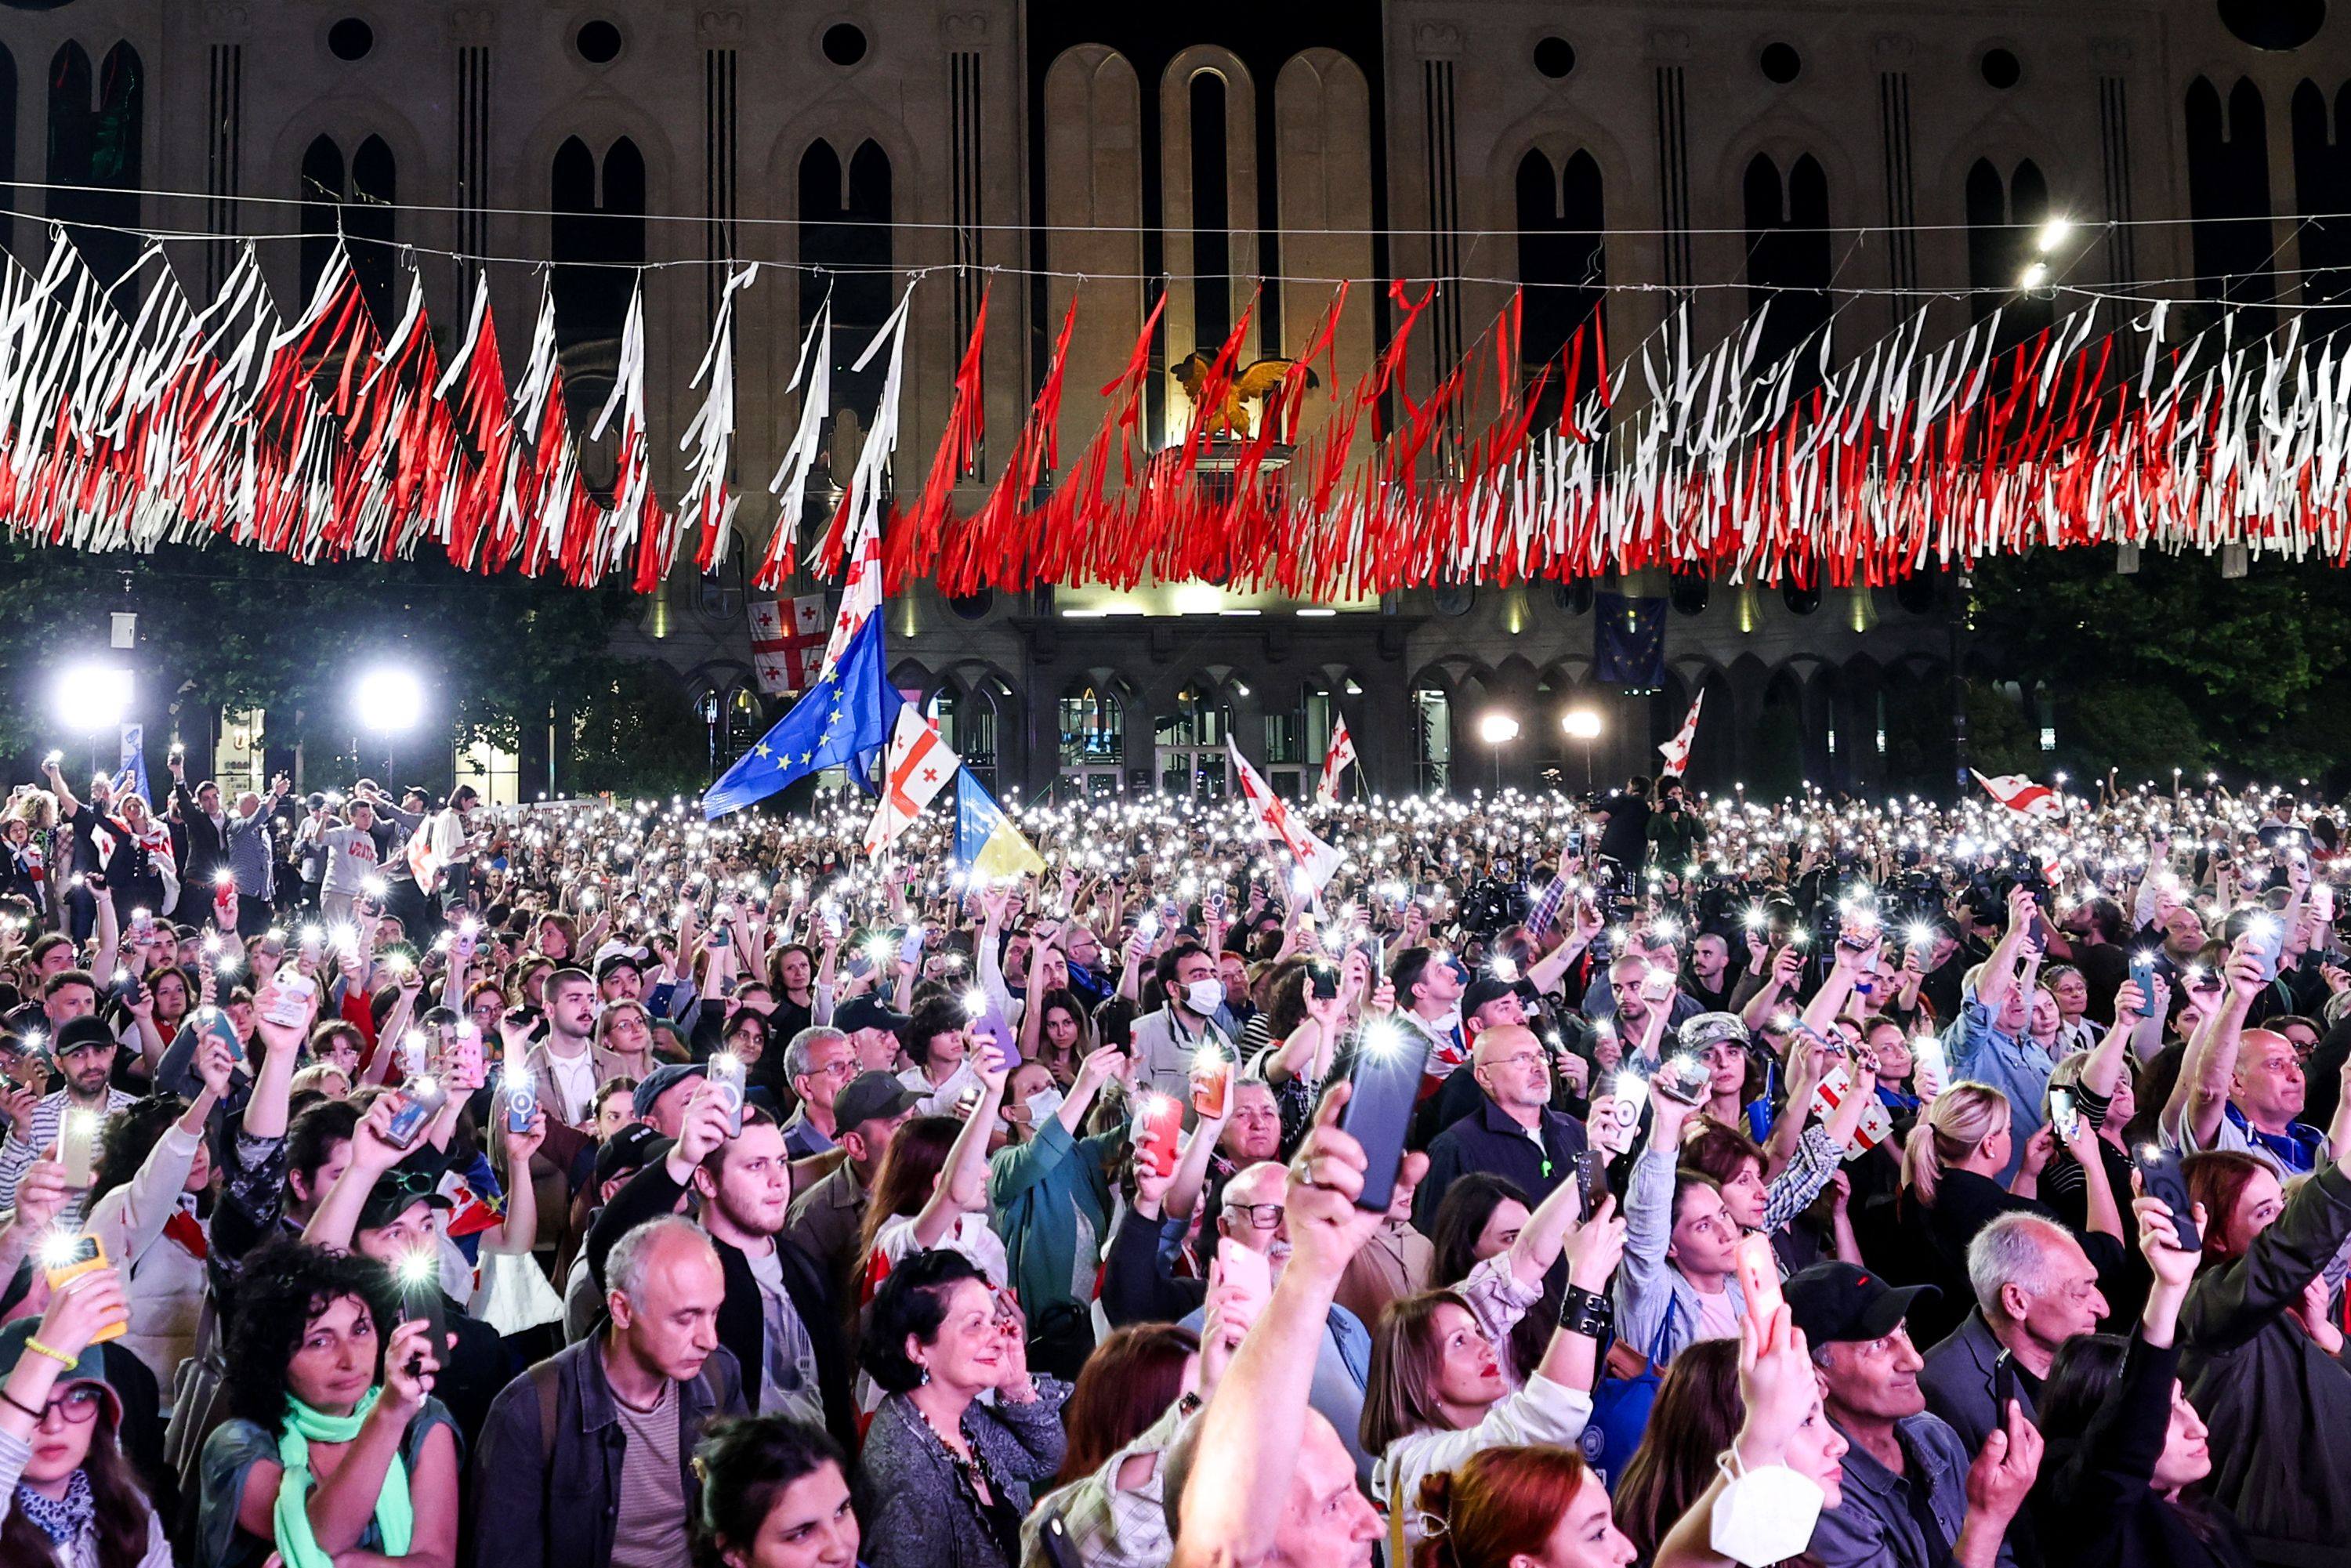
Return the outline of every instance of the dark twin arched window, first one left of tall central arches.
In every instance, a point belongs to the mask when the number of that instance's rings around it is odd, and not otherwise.
[[[891,169],[877,141],[860,141],[842,169],[830,141],[811,141],[799,155],[799,259],[839,268],[837,275],[804,275],[799,282],[799,329],[816,322],[832,294],[832,400],[872,418],[882,404],[879,355],[863,371],[851,369],[865,343],[896,306],[891,268]],[[844,475],[837,475],[844,477]]]

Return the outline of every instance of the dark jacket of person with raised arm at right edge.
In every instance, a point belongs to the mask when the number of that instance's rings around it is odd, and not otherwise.
[[[2212,1427],[2212,1497],[2257,1563],[2351,1561],[2351,1371],[2285,1316],[2351,1237],[2351,1175],[2320,1166],[2179,1312],[2179,1380]]]

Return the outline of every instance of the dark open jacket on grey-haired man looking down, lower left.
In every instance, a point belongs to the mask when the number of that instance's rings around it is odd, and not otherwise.
[[[628,1436],[604,1380],[604,1338],[592,1335],[522,1373],[489,1406],[473,1450],[473,1561],[477,1568],[607,1568],[621,1512]],[[555,1432],[541,1425],[552,1380]],[[694,1448],[715,1415],[743,1413],[743,1378],[719,1347],[694,1382],[677,1385],[677,1467],[686,1519],[701,1507]]]

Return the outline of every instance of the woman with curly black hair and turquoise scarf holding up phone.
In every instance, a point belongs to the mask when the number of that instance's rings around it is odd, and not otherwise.
[[[390,1274],[273,1241],[245,1262],[228,1331],[228,1413],[200,1462],[202,1568],[334,1568],[350,1552],[456,1561],[456,1422],[433,1399],[426,1324],[397,1324]],[[390,1326],[390,1333],[383,1333]]]

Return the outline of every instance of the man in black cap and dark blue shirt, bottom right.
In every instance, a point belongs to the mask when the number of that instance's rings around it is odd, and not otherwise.
[[[1902,1319],[1935,1288],[1815,1262],[1784,1291],[1829,1422],[1853,1443],[1843,1497],[1820,1512],[1810,1556],[1822,1568],[2015,1568],[2005,1535],[2041,1474],[2041,1434],[2010,1401],[1970,1460],[1958,1434],[1925,1413],[1925,1359]]]

